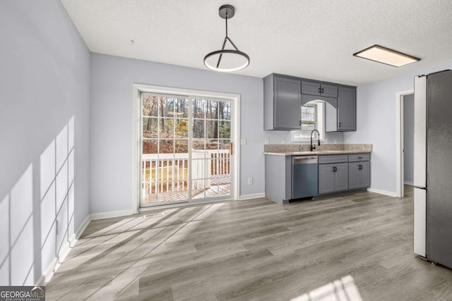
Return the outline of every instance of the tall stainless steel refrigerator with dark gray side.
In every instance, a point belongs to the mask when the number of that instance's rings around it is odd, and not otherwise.
[[[452,70],[415,77],[415,253],[452,268]]]

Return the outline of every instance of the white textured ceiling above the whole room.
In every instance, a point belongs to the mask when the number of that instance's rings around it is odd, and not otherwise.
[[[205,69],[229,37],[249,54],[236,72],[283,73],[349,85],[451,61],[451,0],[61,0],[90,51]],[[135,41],[134,44],[131,40]],[[421,59],[395,68],[352,56],[380,44]],[[420,69],[419,69],[420,68]]]

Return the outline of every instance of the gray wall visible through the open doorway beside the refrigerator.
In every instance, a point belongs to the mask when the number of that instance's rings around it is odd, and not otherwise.
[[[415,94],[403,97],[403,176],[412,185],[415,165]]]

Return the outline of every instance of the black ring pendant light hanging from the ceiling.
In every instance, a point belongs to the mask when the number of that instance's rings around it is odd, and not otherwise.
[[[210,52],[204,57],[204,65],[215,71],[232,72],[246,68],[249,65],[249,56],[242,51],[239,51],[237,46],[227,36],[227,19],[234,16],[234,6],[225,4],[220,6],[218,14],[221,18],[226,20],[226,37],[223,41],[221,50]],[[226,42],[230,42],[234,49],[225,49]]]

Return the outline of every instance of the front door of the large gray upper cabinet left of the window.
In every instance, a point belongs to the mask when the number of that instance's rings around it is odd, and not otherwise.
[[[274,127],[298,130],[301,117],[301,81],[275,77]]]

